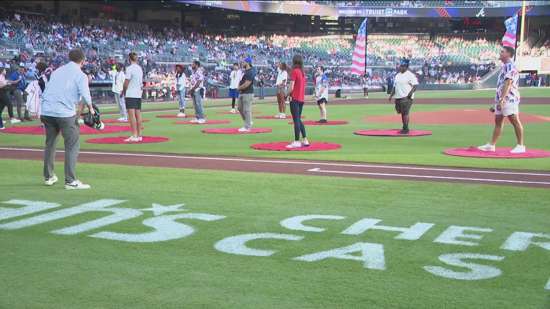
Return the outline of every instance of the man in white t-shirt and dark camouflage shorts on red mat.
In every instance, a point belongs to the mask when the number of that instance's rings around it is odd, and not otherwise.
[[[409,134],[409,111],[416,89],[418,89],[418,80],[414,73],[409,71],[409,60],[403,59],[399,64],[399,73],[395,75],[392,93],[388,98],[388,102],[391,103],[395,95],[395,111],[401,114],[401,120],[403,120],[403,130],[398,134]]]

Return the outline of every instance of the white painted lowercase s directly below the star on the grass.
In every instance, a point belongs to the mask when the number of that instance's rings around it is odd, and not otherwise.
[[[154,231],[140,234],[125,234],[102,231],[92,234],[90,237],[121,240],[129,242],[155,242],[166,241],[171,239],[183,238],[193,234],[195,229],[190,225],[175,222],[177,219],[199,219],[205,221],[213,221],[226,218],[226,216],[217,216],[207,213],[179,213],[157,216],[143,220],[143,224],[147,227],[155,228]]]

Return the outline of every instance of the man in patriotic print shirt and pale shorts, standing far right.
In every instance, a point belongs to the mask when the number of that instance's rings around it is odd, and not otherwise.
[[[519,71],[518,66],[512,60],[515,49],[504,46],[500,51],[500,60],[503,62],[502,71],[498,76],[497,95],[494,97],[494,106],[491,111],[494,112],[494,131],[491,142],[479,146],[477,149],[482,151],[495,151],[494,144],[497,144],[498,137],[504,128],[504,117],[508,117],[510,123],[514,126],[518,145],[511,150],[511,153],[525,152],[523,145],[523,126],[519,121],[519,102],[520,94],[518,89]]]

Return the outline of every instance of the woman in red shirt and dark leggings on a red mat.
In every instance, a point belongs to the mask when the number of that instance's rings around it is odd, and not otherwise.
[[[294,121],[294,142],[287,145],[287,148],[308,147],[309,141],[306,138],[306,128],[301,120],[302,108],[306,101],[306,74],[304,71],[304,59],[300,55],[294,55],[292,58],[292,73],[290,73],[290,86],[287,93],[292,97],[290,101],[290,113]],[[300,143],[300,132],[302,133],[302,142]]]

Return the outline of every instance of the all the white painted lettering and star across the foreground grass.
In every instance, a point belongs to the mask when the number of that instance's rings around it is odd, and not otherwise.
[[[155,216],[142,220],[142,224],[152,228],[152,231],[145,233],[115,233],[112,231],[100,231],[88,235],[93,238],[107,239],[115,241],[127,241],[127,242],[157,242],[168,241],[174,239],[182,239],[193,233],[195,228],[192,225],[180,223],[184,219],[198,219],[212,222],[212,228],[216,228],[216,222],[227,218],[220,214],[208,214],[208,213],[195,213],[189,212],[187,209],[183,209],[184,204],[163,206],[153,203],[148,208],[126,208],[119,207],[125,200],[109,200],[102,199],[89,203],[84,203],[79,206],[57,209],[62,205],[59,203],[43,202],[43,201],[28,201],[28,200],[10,200],[0,202],[1,204],[10,204],[19,207],[0,207],[0,220],[4,222],[0,224],[2,230],[17,230],[33,225],[42,224],[45,222],[51,222],[63,218],[75,216],[76,214],[86,212],[110,212],[111,214],[84,222],[70,227],[57,229],[51,231],[53,234],[61,235],[75,235],[79,233],[85,233],[86,231],[95,230],[98,228],[107,227],[107,225],[115,224],[123,220],[137,218],[145,214],[146,212],[152,212]],[[1,205],[0,204],[0,205]],[[34,217],[27,217],[23,219],[15,219],[20,216],[29,215],[32,213],[48,211],[50,212],[38,214]],[[171,214],[165,214],[170,212]],[[177,212],[174,214],[174,212]],[[313,227],[305,224],[307,220],[311,219],[325,219],[325,220],[342,220],[346,217],[332,216],[325,214],[309,214],[306,216],[295,216],[281,220],[282,227],[287,228],[289,231],[300,231],[303,235],[292,233],[252,233],[230,236],[216,242],[214,247],[216,250],[234,254],[244,255],[251,257],[268,257],[275,253],[275,250],[260,250],[246,245],[246,242],[257,239],[283,239],[289,241],[304,241],[307,233],[323,233],[326,229],[320,227]],[[11,220],[10,220],[11,219]],[[178,220],[178,221],[177,221]],[[368,230],[385,230],[391,231],[391,233],[397,233],[395,239],[403,241],[415,241],[420,239],[423,234],[430,230],[435,224],[416,222],[410,227],[390,227],[383,225],[382,219],[364,218],[353,224],[340,234],[346,235],[360,235],[368,233]],[[433,242],[439,244],[450,244],[459,246],[477,246],[483,239],[484,233],[491,233],[493,230],[490,228],[480,227],[460,227],[451,225],[446,230],[437,236]],[[306,232],[306,233],[304,233]],[[200,231],[199,231],[200,233]],[[505,240],[500,246],[501,252],[507,251],[525,251],[530,247],[538,246],[546,250],[550,250],[550,234],[533,233],[529,231],[515,231],[507,240]],[[357,254],[359,253],[359,254]],[[296,256],[292,258],[294,261],[301,262],[315,262],[325,260],[327,258],[355,260],[358,261],[358,267],[361,265],[364,268],[376,269],[377,271],[385,271],[386,257],[384,253],[384,246],[382,244],[376,244],[372,242],[356,242],[344,247],[338,247],[326,251],[311,252],[305,255]],[[439,261],[452,266],[464,267],[469,269],[467,271],[454,271],[453,269],[444,268],[440,266],[422,266],[422,268],[433,275],[449,279],[460,280],[481,280],[498,277],[502,274],[502,271],[498,267],[488,266],[482,264],[483,260],[487,261],[503,261],[504,255],[489,255],[481,253],[447,253],[438,257]],[[463,261],[467,260],[467,261]],[[476,263],[472,262],[475,260]],[[545,274],[548,275],[548,274]],[[544,285],[544,288],[550,290],[550,280]]]

